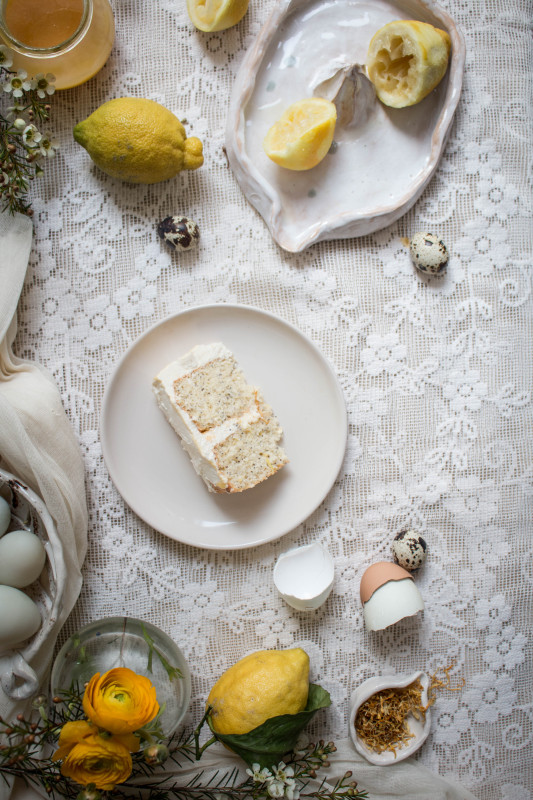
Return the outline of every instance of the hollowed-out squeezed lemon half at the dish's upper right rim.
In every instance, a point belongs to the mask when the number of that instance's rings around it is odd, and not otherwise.
[[[449,55],[446,31],[427,22],[398,20],[374,35],[366,68],[381,102],[405,108],[423,100],[442,80]]]

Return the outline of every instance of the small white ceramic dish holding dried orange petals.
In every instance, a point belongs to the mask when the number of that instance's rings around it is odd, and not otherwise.
[[[374,750],[370,750],[359,738],[355,731],[355,717],[357,712],[369,697],[371,697],[373,694],[376,694],[376,692],[383,691],[384,689],[404,689],[406,686],[410,686],[410,684],[414,683],[416,680],[420,680],[420,683],[422,684],[421,699],[423,705],[426,706],[428,703],[429,677],[425,672],[414,672],[408,677],[402,677],[400,675],[376,676],[375,678],[369,678],[368,680],[364,681],[352,692],[352,696],[350,698],[350,738],[354,743],[357,752],[366,758],[367,761],[370,761],[371,764],[377,764],[378,766],[397,764],[398,761],[403,761],[404,758],[408,758],[409,756],[412,756],[413,753],[416,753],[416,751],[424,744],[429,736],[429,730],[431,727],[431,715],[429,710],[426,711],[423,720],[417,720],[412,715],[408,717],[409,730],[414,734],[414,736],[409,740],[408,744],[396,750],[396,755],[390,750],[385,750],[383,753],[376,753]]]

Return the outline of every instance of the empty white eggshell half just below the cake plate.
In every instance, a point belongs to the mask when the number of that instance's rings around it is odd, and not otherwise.
[[[273,577],[276,589],[288,605],[298,611],[314,611],[329,597],[335,567],[324,547],[308,544],[282,553]]]

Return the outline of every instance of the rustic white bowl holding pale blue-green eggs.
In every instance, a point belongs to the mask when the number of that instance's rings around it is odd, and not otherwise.
[[[0,469],[0,495],[11,508],[8,530],[28,530],[40,538],[46,551],[46,563],[37,581],[21,591],[37,603],[41,626],[27,641],[0,652],[0,682],[8,697],[25,699],[39,687],[34,670],[27,663],[50,635],[61,609],[67,581],[62,561],[62,546],[56,526],[42,499],[15,475]]]

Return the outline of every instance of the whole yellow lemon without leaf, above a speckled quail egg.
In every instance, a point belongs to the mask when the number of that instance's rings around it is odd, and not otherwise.
[[[153,100],[120,97],[74,128],[74,138],[107,175],[127,183],[159,183],[204,163],[202,143]]]

